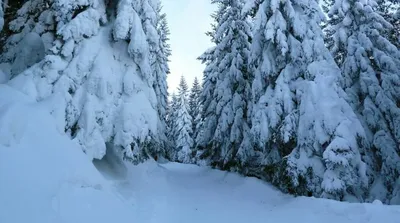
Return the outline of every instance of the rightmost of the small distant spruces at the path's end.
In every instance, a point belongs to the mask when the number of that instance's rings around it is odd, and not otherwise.
[[[193,118],[192,123],[192,138],[195,139],[197,134],[198,123],[195,120],[201,117],[201,103],[200,103],[201,85],[197,77],[194,78],[192,88],[189,94],[189,114]],[[197,119],[196,119],[197,118]],[[200,120],[198,120],[200,121]]]

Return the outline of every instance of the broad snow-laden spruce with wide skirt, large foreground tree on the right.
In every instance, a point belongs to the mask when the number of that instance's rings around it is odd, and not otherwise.
[[[314,0],[261,3],[253,29],[255,145],[248,159],[259,160],[264,177],[285,192],[362,199],[365,134],[324,46],[322,18]]]

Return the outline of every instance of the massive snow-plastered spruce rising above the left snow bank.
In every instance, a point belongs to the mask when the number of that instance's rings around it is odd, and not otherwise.
[[[59,130],[92,158],[101,159],[106,144],[134,162],[163,153],[153,87],[165,77],[157,79],[152,69],[152,44],[159,40],[149,25],[157,16],[150,17],[148,5],[145,0],[28,0],[10,23],[9,53],[2,55],[10,72],[27,68],[24,60],[30,59],[26,49],[13,47],[31,44],[43,57],[36,64],[28,61],[31,68],[10,84],[50,109]],[[14,66],[19,58],[22,68]]]

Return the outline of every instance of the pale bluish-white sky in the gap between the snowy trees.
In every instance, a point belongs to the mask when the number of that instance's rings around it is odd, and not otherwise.
[[[202,80],[204,65],[196,58],[212,46],[205,32],[211,29],[210,15],[216,6],[211,4],[211,0],[162,0],[162,3],[171,31],[171,74],[167,80],[168,91],[172,94],[181,75],[189,87],[194,77]]]

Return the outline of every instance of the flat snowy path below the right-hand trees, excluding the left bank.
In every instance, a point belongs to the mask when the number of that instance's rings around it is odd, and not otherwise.
[[[269,185],[193,165],[146,163],[128,170],[118,191],[140,223],[398,223],[399,206],[293,198]]]

